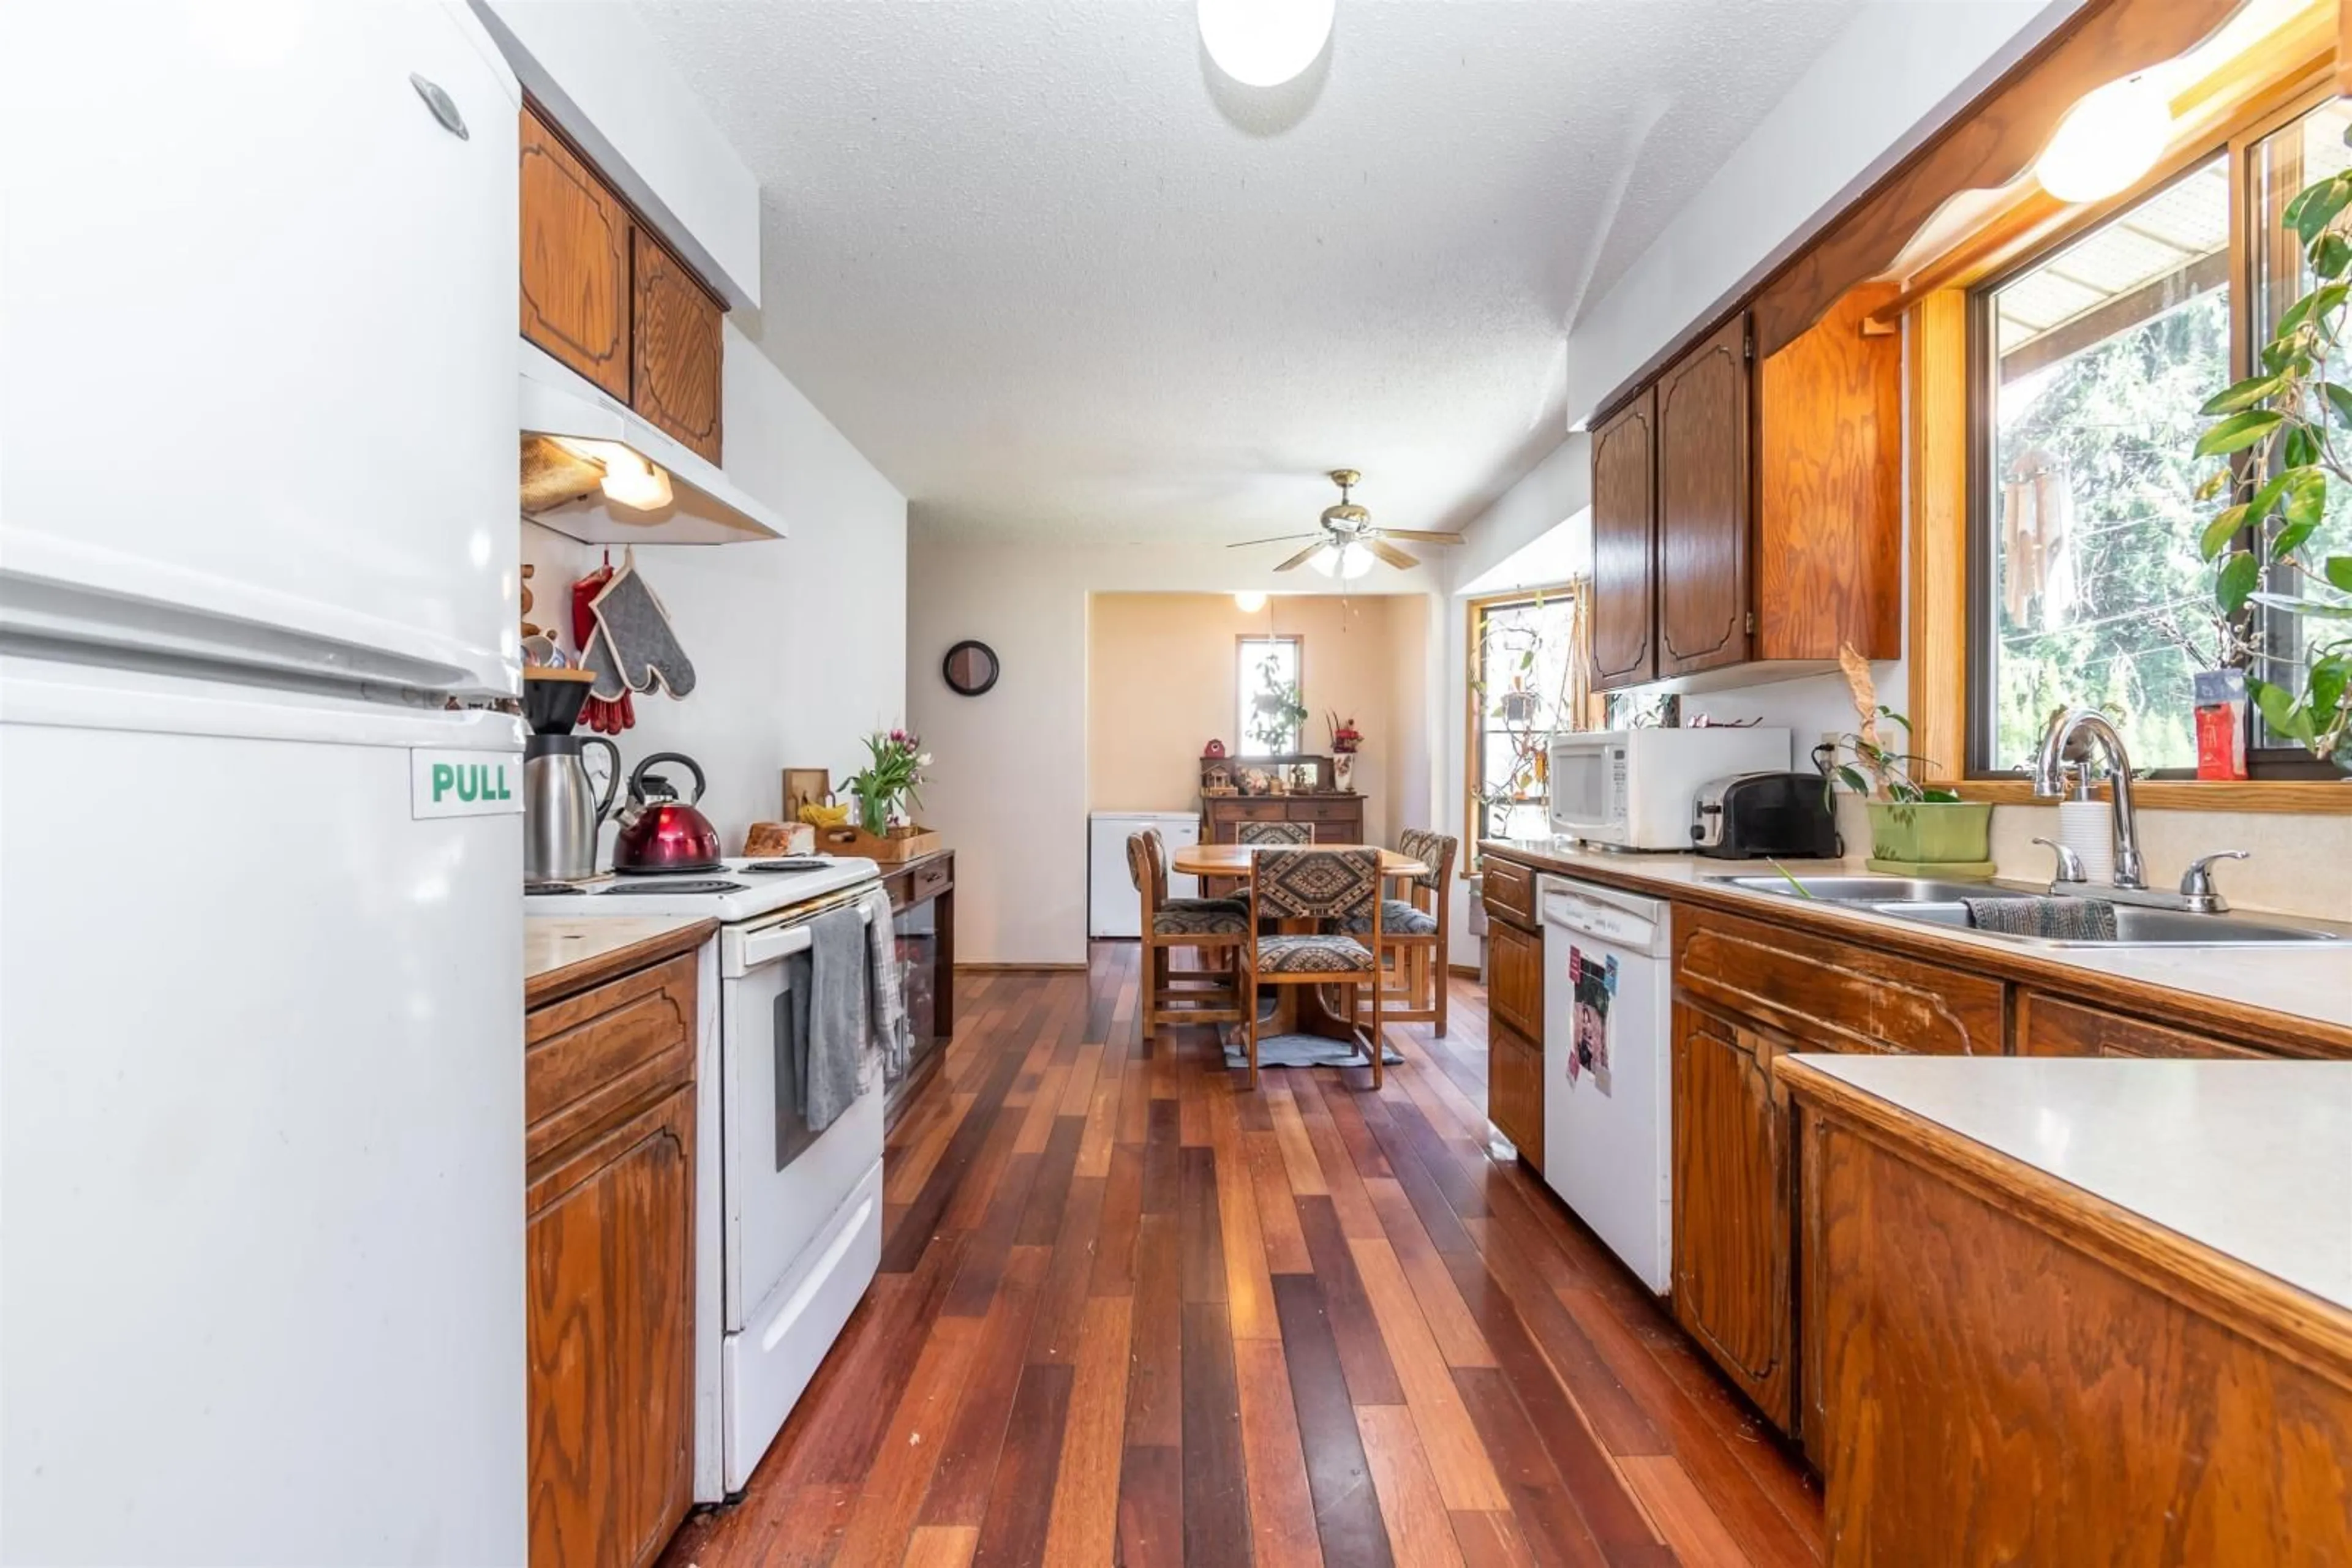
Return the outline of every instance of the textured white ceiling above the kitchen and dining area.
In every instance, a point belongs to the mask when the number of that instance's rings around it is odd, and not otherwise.
[[[640,5],[760,176],[764,353],[920,522],[1103,541],[1312,527],[1327,468],[1477,515],[1858,0],[1345,0],[1275,89],[1185,0]]]

